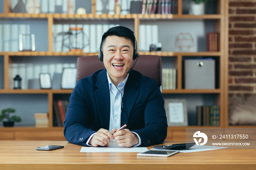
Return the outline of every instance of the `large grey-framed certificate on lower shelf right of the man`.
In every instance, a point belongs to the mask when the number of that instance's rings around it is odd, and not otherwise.
[[[188,112],[185,99],[166,99],[165,111],[168,126],[187,126]]]

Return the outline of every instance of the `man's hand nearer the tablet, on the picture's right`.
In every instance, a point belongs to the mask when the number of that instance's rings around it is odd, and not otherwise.
[[[113,132],[115,131],[116,129],[113,129]],[[128,129],[123,129],[118,132],[115,132],[113,136],[116,140],[116,143],[118,143],[118,146],[120,147],[131,147],[139,143],[138,136],[136,134],[133,134]]]

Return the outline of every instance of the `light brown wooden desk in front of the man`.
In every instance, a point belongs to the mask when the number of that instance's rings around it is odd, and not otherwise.
[[[165,142],[171,143],[177,142]],[[45,145],[63,145],[64,148],[53,151],[35,150],[36,147]],[[168,158],[159,158],[137,157],[135,152],[84,153],[80,152],[81,147],[67,141],[0,141],[0,169],[244,170],[256,167],[256,149],[221,149],[178,153]]]

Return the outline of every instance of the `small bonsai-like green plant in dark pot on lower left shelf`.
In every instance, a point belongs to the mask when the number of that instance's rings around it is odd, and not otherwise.
[[[19,116],[10,116],[10,113],[15,113],[14,108],[6,108],[1,111],[0,121],[3,121],[4,127],[12,127],[14,126],[14,122],[20,122],[22,119]]]

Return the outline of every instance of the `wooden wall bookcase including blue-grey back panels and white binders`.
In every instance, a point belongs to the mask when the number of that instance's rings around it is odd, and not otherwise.
[[[68,100],[72,89],[31,88],[29,83],[31,80],[38,80],[39,73],[50,73],[53,78],[53,74],[60,74],[64,67],[76,67],[79,56],[98,55],[103,32],[116,25],[129,27],[135,32],[140,54],[160,55],[163,68],[177,70],[176,89],[162,89],[162,94],[164,99],[187,100],[189,125],[168,127],[167,140],[185,140],[185,129],[197,127],[197,105],[219,105],[219,127],[228,127],[228,1],[209,1],[205,15],[189,15],[189,0],[177,0],[177,14],[145,15],[98,12],[96,0],[91,1],[91,13],[84,15],[54,13],[54,9],[39,14],[13,13],[8,10],[8,2],[4,0],[4,8],[0,9],[0,29],[3,30],[0,33],[0,109],[15,108],[23,121],[14,128],[1,127],[0,131],[4,136],[1,135],[0,140],[64,140],[63,128],[55,127],[53,123],[53,101]],[[82,27],[84,34],[88,36],[89,45],[82,52],[62,48],[63,37],[60,33],[67,32],[69,27]],[[193,38],[194,45],[190,51],[179,51],[175,47],[175,40],[182,32],[189,32]],[[207,51],[208,32],[219,32],[219,51]],[[19,51],[20,33],[35,35],[36,51]],[[151,43],[162,43],[162,51],[149,51]],[[200,58],[215,60],[215,89],[184,88],[184,60]],[[20,90],[13,89],[15,74],[21,74],[23,78]],[[49,113],[48,128],[34,127],[36,112]],[[42,135],[37,135],[40,133]]]

